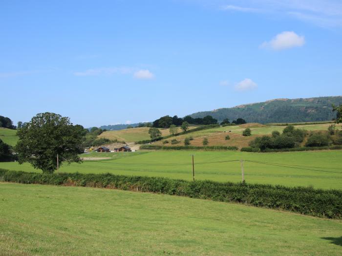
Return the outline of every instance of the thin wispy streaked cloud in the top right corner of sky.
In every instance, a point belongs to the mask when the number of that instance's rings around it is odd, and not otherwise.
[[[226,0],[222,10],[285,15],[321,27],[342,26],[341,0]]]

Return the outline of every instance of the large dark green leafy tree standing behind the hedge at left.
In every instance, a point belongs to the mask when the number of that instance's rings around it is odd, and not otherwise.
[[[53,173],[63,162],[82,162],[82,129],[70,119],[54,113],[41,113],[18,130],[15,148],[20,164],[29,162],[44,173]]]

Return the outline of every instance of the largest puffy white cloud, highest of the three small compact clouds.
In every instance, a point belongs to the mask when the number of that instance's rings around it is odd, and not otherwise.
[[[276,51],[303,46],[305,39],[293,31],[284,31],[275,36],[271,41],[263,42],[261,48],[270,48]]]

